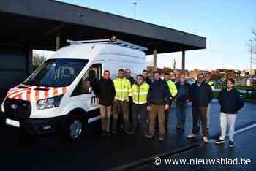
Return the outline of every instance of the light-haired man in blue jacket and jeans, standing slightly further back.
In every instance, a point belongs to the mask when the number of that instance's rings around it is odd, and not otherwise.
[[[176,83],[178,93],[174,97],[176,102],[176,115],[177,115],[177,129],[184,129],[186,123],[187,102],[189,101],[190,84],[187,83],[184,74],[179,75],[178,82]]]

